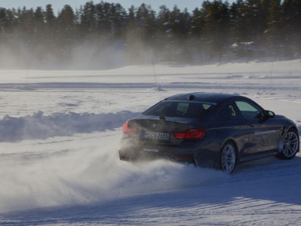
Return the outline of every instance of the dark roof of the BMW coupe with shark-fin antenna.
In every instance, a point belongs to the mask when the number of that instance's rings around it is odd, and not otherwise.
[[[226,99],[248,99],[247,97],[240,96],[239,94],[227,94],[227,93],[208,93],[208,92],[191,92],[191,93],[181,93],[174,96],[170,96],[167,100],[188,100],[188,98],[192,97],[194,101],[203,101],[203,102],[212,102],[212,103],[220,103],[225,101]]]

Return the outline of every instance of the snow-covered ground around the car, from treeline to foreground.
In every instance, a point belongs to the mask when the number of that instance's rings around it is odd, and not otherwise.
[[[301,153],[232,175],[119,160],[127,119],[195,91],[250,97],[301,132],[301,60],[0,70],[0,225],[300,225]]]

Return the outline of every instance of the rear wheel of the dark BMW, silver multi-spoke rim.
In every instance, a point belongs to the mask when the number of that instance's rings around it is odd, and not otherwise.
[[[219,168],[226,173],[232,173],[237,163],[237,148],[234,142],[227,141],[220,151]]]

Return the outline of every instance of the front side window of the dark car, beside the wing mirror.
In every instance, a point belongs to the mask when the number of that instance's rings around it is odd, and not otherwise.
[[[258,115],[263,116],[261,108],[252,102],[238,100],[235,101],[235,103],[244,119],[254,119],[257,118]]]

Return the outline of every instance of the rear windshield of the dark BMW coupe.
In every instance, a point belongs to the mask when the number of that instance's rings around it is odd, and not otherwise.
[[[197,101],[164,100],[150,107],[142,115],[164,116],[178,118],[200,118],[204,116],[213,104]]]

